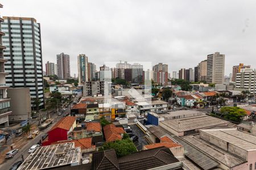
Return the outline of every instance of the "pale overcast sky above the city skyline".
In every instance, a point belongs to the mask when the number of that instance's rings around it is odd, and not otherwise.
[[[256,64],[256,1],[2,0],[1,16],[41,24],[43,67],[56,54],[84,53],[97,69],[104,61],[167,63],[169,71],[195,67],[207,54],[225,54],[225,75],[238,63]]]

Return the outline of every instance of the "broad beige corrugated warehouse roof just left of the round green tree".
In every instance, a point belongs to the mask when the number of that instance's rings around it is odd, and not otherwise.
[[[210,126],[216,126],[221,124],[228,124],[229,121],[222,120],[220,118],[202,115],[188,118],[180,118],[176,120],[162,121],[161,124],[168,126],[175,131],[188,131],[201,128],[207,128]]]

